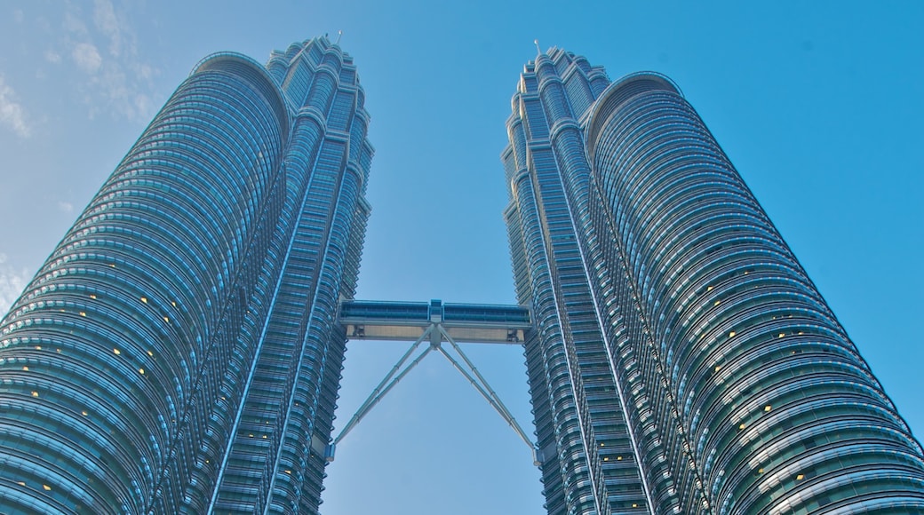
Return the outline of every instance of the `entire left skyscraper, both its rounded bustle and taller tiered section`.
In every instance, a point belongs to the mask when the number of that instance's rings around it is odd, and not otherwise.
[[[0,512],[316,512],[372,148],[326,38],[195,67],[0,324]]]

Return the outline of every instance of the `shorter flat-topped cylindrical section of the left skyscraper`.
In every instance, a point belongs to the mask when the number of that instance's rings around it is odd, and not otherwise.
[[[261,66],[204,62],[3,320],[5,512],[175,510],[287,138]]]

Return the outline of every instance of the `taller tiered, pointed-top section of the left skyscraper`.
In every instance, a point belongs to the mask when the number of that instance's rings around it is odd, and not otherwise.
[[[263,270],[272,296],[257,355],[218,461],[216,512],[317,513],[346,331],[369,205],[369,114],[356,66],[324,38],[271,55],[269,73],[293,113],[286,187]]]

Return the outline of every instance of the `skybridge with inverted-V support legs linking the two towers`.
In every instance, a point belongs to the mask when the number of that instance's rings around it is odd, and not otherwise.
[[[359,406],[334,443],[323,449],[327,461],[334,461],[334,449],[359,424],[371,409],[402,378],[407,376],[429,353],[441,353],[456,371],[481,394],[485,401],[517,432],[540,465],[536,444],[507,410],[478,368],[462,352],[459,343],[498,343],[518,345],[526,340],[532,329],[529,307],[525,305],[444,304],[434,299],[426,302],[342,301],[337,310],[337,321],[346,327],[346,338],[375,341],[413,341],[391,371],[382,379],[369,398]],[[446,350],[448,343],[453,352]],[[422,344],[426,346],[419,350]],[[413,356],[413,359],[412,359]],[[321,442],[312,442],[322,447]],[[322,449],[318,449],[321,451]]]

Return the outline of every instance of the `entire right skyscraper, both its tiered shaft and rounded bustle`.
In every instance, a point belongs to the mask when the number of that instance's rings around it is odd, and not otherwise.
[[[550,514],[924,513],[924,459],[668,78],[525,66],[505,211]]]

